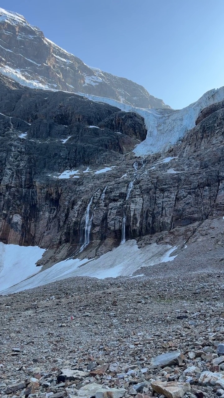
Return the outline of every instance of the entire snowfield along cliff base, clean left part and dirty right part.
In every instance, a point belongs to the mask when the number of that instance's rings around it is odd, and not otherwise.
[[[14,246],[14,250],[6,246]],[[88,276],[104,279],[116,278],[118,276],[131,276],[137,269],[143,266],[149,267],[161,262],[172,261],[176,256],[170,257],[170,254],[176,250],[177,247],[153,243],[139,249],[136,240],[128,240],[124,244],[114,248],[111,252],[103,254],[100,258],[90,260],[67,259],[60,261],[51,268],[45,269],[32,277],[30,276],[34,274],[35,271],[40,271],[39,268],[35,268],[34,264],[43,254],[43,249],[4,245],[3,243],[1,243],[0,248],[1,253],[6,253],[6,256],[2,260],[5,272],[4,275],[0,273],[0,277],[1,275],[3,277],[0,279],[0,294],[9,294],[46,285],[47,283],[69,277]],[[35,249],[36,252],[32,252],[31,249]],[[20,253],[20,256],[17,258],[18,253]],[[32,265],[29,264],[29,258],[32,258],[31,256],[33,256]],[[12,264],[11,266],[9,265],[10,263]],[[8,272],[10,272],[10,277],[7,281]]]

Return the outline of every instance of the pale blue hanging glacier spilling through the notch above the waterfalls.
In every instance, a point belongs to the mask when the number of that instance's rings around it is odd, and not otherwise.
[[[145,120],[147,137],[136,146],[133,152],[136,156],[147,156],[157,152],[164,152],[175,144],[177,140],[184,137],[187,131],[193,129],[202,109],[224,100],[224,86],[206,92],[198,101],[179,110],[143,109],[122,104],[110,98],[79,94],[90,100],[108,103],[123,111],[132,111],[141,115]]]

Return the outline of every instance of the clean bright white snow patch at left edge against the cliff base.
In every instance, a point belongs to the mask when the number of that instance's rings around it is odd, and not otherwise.
[[[45,249],[38,246],[6,245],[0,242],[0,291],[39,272],[35,266]]]

